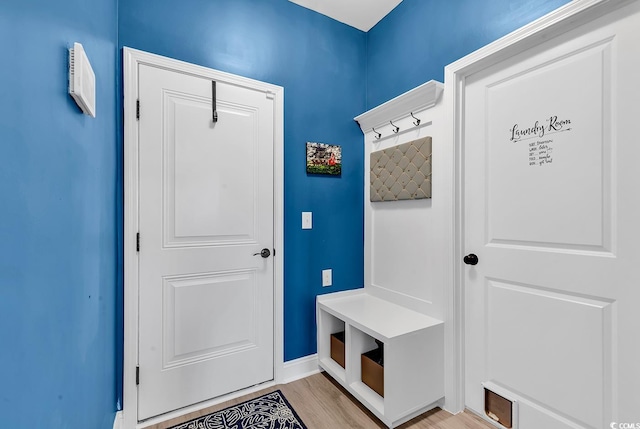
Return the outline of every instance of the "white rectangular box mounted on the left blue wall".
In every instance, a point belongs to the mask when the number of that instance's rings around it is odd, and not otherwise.
[[[86,115],[96,117],[96,75],[77,42],[69,49],[69,94]]]

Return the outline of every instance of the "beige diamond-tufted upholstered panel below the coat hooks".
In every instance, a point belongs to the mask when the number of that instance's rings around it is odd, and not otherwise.
[[[371,152],[370,200],[431,198],[431,137]]]

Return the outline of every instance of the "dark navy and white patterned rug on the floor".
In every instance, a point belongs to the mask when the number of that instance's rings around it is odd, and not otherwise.
[[[234,405],[169,429],[307,429],[281,391]]]

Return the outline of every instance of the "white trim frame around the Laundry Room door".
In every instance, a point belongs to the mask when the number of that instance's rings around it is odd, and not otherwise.
[[[637,0],[574,0],[536,21],[478,49],[445,67],[444,102],[447,110],[446,154],[449,165],[450,200],[448,225],[453,238],[448,244],[445,267],[445,409],[459,413],[465,408],[465,284],[464,265],[464,105],[466,78],[518,53],[531,49]]]

